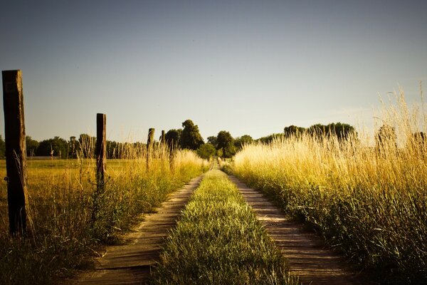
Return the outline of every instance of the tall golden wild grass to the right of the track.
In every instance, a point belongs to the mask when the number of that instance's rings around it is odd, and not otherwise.
[[[423,284],[427,114],[408,108],[403,93],[397,99],[381,116],[396,136],[292,135],[246,145],[231,170],[310,224],[359,269],[391,283]]]

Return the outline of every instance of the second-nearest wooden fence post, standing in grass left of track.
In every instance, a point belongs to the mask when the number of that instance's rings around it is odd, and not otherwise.
[[[106,123],[107,118],[105,114],[96,114],[96,193],[95,197],[93,197],[92,222],[96,220],[100,195],[105,190],[105,169],[107,165]]]

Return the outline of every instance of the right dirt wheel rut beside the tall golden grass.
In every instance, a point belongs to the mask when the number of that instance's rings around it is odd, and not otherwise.
[[[300,276],[302,284],[368,284],[359,280],[359,276],[346,268],[341,257],[326,249],[320,238],[308,233],[302,224],[290,221],[260,192],[247,187],[236,177],[228,177],[253,207],[270,237],[288,259],[291,273]]]

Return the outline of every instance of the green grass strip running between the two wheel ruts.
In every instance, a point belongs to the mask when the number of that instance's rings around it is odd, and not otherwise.
[[[251,207],[208,172],[172,229],[153,284],[297,284]]]

